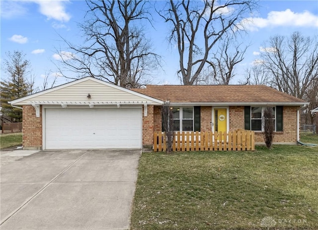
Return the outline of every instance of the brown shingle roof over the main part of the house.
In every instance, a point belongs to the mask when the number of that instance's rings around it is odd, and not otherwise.
[[[264,85],[147,85],[133,90],[172,103],[306,103]]]

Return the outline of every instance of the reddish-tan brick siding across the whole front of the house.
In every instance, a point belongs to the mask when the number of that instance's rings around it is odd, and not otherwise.
[[[297,109],[284,106],[283,132],[275,133],[274,142],[297,141]],[[148,105],[148,115],[143,116],[143,146],[153,145],[154,131],[161,131],[160,106]],[[144,108],[143,108],[144,114]],[[230,131],[244,128],[244,107],[230,106]],[[23,148],[42,149],[42,106],[36,117],[33,106],[23,106]],[[201,131],[211,131],[212,107],[201,106]],[[261,132],[255,133],[255,142],[264,142]]]

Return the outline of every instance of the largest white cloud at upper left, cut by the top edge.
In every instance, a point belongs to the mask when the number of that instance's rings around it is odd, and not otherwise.
[[[68,0],[66,0],[68,1]],[[40,6],[40,12],[48,19],[67,22],[71,15],[65,10],[65,0],[34,0]]]

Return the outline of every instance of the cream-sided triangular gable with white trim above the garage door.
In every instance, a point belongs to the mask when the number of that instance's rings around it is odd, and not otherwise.
[[[87,98],[87,95],[90,98]],[[85,77],[11,102],[12,105],[154,104],[161,101],[102,80]]]

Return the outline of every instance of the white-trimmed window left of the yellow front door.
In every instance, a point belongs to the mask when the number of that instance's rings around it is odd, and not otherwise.
[[[193,107],[171,107],[174,131],[193,131]]]

